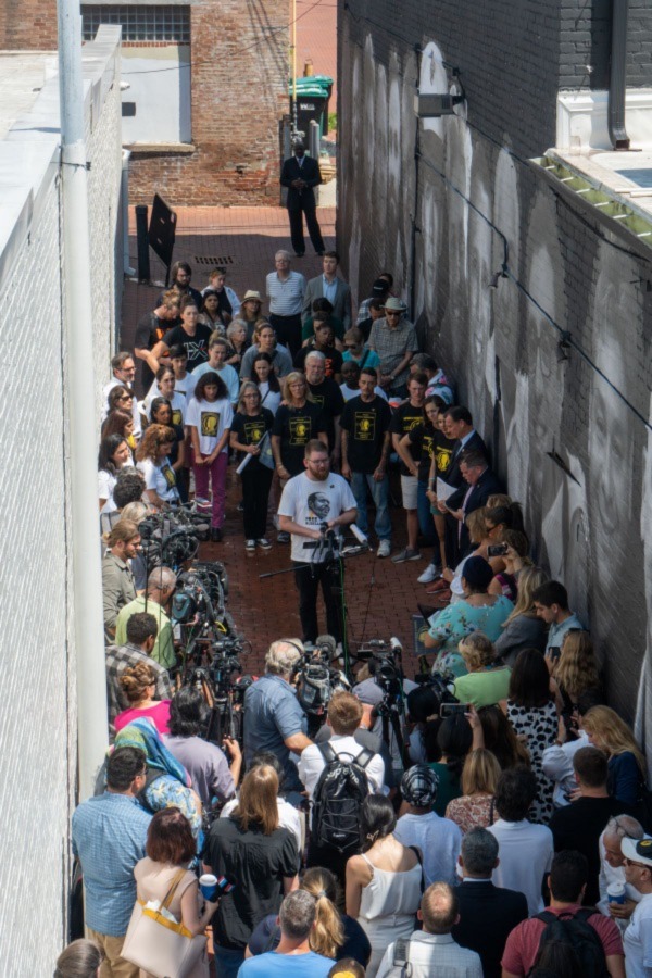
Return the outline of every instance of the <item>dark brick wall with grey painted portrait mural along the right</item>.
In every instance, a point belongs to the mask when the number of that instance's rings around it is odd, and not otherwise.
[[[400,25],[384,2],[340,7],[339,247],[361,296],[393,272],[525,504],[537,559],[590,626],[612,703],[632,720],[652,651],[651,252],[598,211],[574,211],[528,164],[528,149],[554,139],[556,90],[526,63],[532,32],[515,5],[472,5],[473,30],[464,2],[453,23],[446,0],[427,12],[410,0]],[[507,8],[514,23],[499,50]],[[556,60],[548,53],[554,77],[559,46]],[[443,62],[465,86],[473,79],[468,118],[422,124],[417,176],[413,95],[417,82],[447,90]],[[494,291],[503,239],[511,277]],[[551,319],[581,352],[559,362]],[[641,699],[640,729],[644,718]]]

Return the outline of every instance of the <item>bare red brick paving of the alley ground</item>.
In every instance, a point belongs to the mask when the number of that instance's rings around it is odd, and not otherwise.
[[[327,246],[335,243],[331,209],[319,209],[319,220]],[[274,251],[288,246],[287,214],[279,208],[204,208],[181,209],[178,217],[175,259],[186,259],[193,269],[193,285],[205,284],[209,265],[197,261],[201,256],[225,256],[231,287],[240,294],[247,288],[264,293],[265,275],[273,268]],[[136,244],[130,243],[131,264],[136,264]],[[293,267],[309,277],[319,272],[315,255],[297,259]],[[162,271],[152,262],[152,275]],[[159,289],[127,283],[123,303],[124,349],[133,348],[134,327],[139,316],[153,308]],[[229,609],[241,631],[253,645],[252,670],[260,669],[262,655],[269,642],[281,635],[300,635],[297,598],[292,575],[260,579],[261,574],[289,566],[289,547],[274,547],[267,553],[244,552],[241,516],[236,506],[239,500],[238,477],[229,471],[228,503],[225,540],[221,544],[203,544],[202,556],[221,560],[226,565],[230,595]],[[404,521],[400,509],[392,510],[394,546],[404,544]],[[269,536],[275,531],[269,527]],[[412,648],[411,615],[416,602],[425,599],[424,588],[416,578],[425,567],[419,563],[394,565],[374,555],[353,557],[347,564],[347,601],[349,605],[350,639],[398,636]],[[410,654],[406,666],[410,666]],[[249,668],[249,665],[248,665]]]

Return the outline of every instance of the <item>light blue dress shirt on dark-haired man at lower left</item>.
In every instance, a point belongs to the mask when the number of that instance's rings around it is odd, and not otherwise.
[[[135,798],[105,791],[73,814],[73,852],[86,888],[86,924],[98,933],[127,932],[136,903],[134,867],[145,858],[152,816]]]

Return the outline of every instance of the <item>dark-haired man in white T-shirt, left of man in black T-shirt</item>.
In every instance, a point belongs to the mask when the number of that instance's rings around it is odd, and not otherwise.
[[[542,885],[554,853],[548,826],[527,820],[536,794],[537,778],[531,770],[503,770],[496,789],[498,822],[489,826],[500,845],[500,863],[491,880],[497,887],[525,893],[530,917],[544,907]]]

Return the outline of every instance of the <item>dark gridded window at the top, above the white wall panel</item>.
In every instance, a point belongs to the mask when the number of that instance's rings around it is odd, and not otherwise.
[[[190,43],[189,7],[98,5],[82,7],[84,40],[93,40],[100,24],[120,24],[123,41]]]

